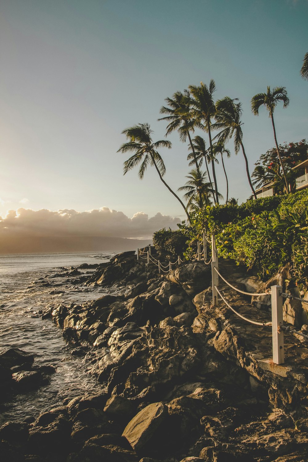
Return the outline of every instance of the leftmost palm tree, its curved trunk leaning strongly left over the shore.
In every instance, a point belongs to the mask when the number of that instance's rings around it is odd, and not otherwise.
[[[138,125],[134,125],[133,127],[126,128],[122,131],[122,134],[125,134],[127,140],[129,141],[128,143],[122,144],[122,146],[120,146],[117,152],[133,152],[133,156],[124,162],[124,175],[129,170],[132,170],[134,167],[139,165],[141,162],[138,176],[140,180],[142,180],[147,166],[149,164],[151,166],[154,166],[160,180],[163,182],[166,188],[169,189],[170,193],[176,197],[176,199],[180,202],[181,206],[184,208],[185,213],[187,214],[187,219],[190,223],[190,216],[187,213],[185,205],[163,179],[163,176],[166,172],[166,167],[163,163],[163,159],[157,152],[157,148],[167,147],[168,149],[170,149],[171,143],[167,140],[159,140],[153,143],[153,140],[151,138],[152,133],[153,131],[151,130],[150,125],[148,123],[139,123]]]

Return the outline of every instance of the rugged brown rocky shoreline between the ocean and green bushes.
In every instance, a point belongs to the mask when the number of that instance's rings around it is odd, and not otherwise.
[[[132,251],[89,274],[80,269],[85,265],[49,278],[65,276],[71,284],[109,287],[111,293],[38,315],[62,329],[101,391],[65,401],[34,422],[6,423],[0,428],[3,461],[307,460],[305,338],[286,334],[285,365],[275,367],[271,329],[252,327],[223,304],[213,307],[211,269],[203,262],[162,276]],[[287,290],[286,268],[265,286],[228,261],[220,271],[249,292],[275,283]],[[271,319],[268,298],[226,293],[242,314]],[[305,316],[305,307],[285,302],[286,321],[305,325]],[[5,355],[2,393],[40,386],[54,372],[36,371],[24,352]]]

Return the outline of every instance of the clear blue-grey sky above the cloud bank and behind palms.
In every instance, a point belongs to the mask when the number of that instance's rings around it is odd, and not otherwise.
[[[251,172],[274,146],[266,110],[256,117],[250,108],[267,85],[285,86],[290,98],[287,109],[275,110],[278,142],[307,138],[308,82],[299,74],[307,19],[307,0],[2,0],[2,228],[10,229],[7,211],[18,209],[13,224],[30,209],[33,230],[41,209],[59,216],[87,211],[88,218],[91,210],[109,209],[130,221],[158,213],[152,226],[184,219],[154,169],[142,181],[135,170],[123,176],[127,155],[117,150],[126,140],[122,130],[136,123],[150,123],[153,140],[163,139],[166,124],[157,119],[164,98],[200,81],[215,80],[215,99],[242,102]],[[207,134],[196,134],[208,146]],[[172,149],[160,153],[165,180],[176,190],[189,170],[187,145],[177,133],[168,139]],[[242,202],[251,195],[245,165],[241,152],[228,147],[229,196]],[[217,181],[225,195],[221,165]],[[144,227],[133,236],[131,228],[123,226],[121,237],[145,237]],[[150,228],[149,236],[156,230]],[[102,225],[106,230],[119,234]]]

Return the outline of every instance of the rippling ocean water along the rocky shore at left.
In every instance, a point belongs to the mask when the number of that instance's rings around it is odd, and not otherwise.
[[[50,383],[27,393],[12,393],[0,403],[0,425],[35,419],[41,412],[62,405],[64,399],[99,389],[96,378],[51,320],[36,317],[37,310],[58,303],[82,303],[102,297],[106,289],[72,286],[67,278],[50,276],[60,268],[109,261],[104,253],[0,255],[0,353],[10,347],[35,354],[35,365],[53,365]],[[85,269],[82,272],[91,270]],[[92,270],[93,271],[93,270]],[[48,281],[50,286],[44,286]]]

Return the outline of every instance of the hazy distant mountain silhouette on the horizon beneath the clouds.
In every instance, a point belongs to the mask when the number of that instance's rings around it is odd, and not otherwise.
[[[37,237],[17,239],[7,235],[0,240],[0,254],[49,253],[49,252],[100,252],[137,250],[151,243],[151,239],[127,239],[123,237]]]

